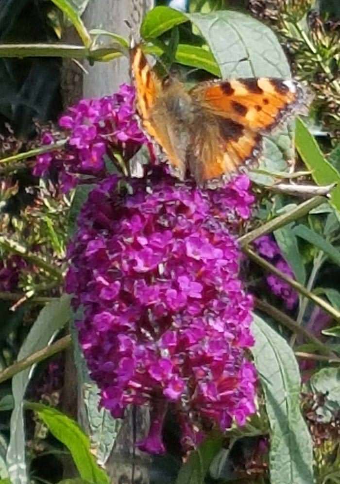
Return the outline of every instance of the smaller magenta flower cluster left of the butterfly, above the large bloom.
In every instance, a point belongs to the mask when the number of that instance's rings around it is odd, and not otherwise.
[[[54,171],[58,184],[68,192],[79,180],[79,175],[103,178],[105,155],[114,158],[119,151],[129,159],[146,143],[145,135],[136,121],[135,89],[127,84],[119,92],[101,99],[83,99],[68,108],[59,119],[68,143],[62,150],[53,150],[37,156],[34,175],[45,176]],[[61,133],[51,131],[42,135],[43,145],[55,143]]]

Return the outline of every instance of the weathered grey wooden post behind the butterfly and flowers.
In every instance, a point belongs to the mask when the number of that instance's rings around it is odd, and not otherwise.
[[[134,37],[138,38],[141,20],[145,12],[153,7],[153,2],[154,0],[90,0],[83,15],[83,21],[88,30],[101,28],[129,38],[130,31],[125,23],[127,20],[132,26]],[[79,39],[76,40],[76,35],[72,31],[66,33],[64,40],[79,43]],[[126,58],[121,57],[108,63],[96,62],[94,66],[89,66],[85,62],[85,68],[88,74],[82,74],[79,66],[71,61],[64,63],[62,79],[65,107],[82,97],[98,98],[113,94],[118,91],[120,84],[130,83]],[[74,368],[71,362],[68,362],[66,372],[72,376]],[[66,378],[66,381],[68,380],[69,378]],[[75,405],[80,424],[85,431],[88,431],[82,390],[78,388]],[[70,409],[68,411],[70,412]],[[138,408],[135,411],[129,409],[126,412],[114,450],[106,463],[106,470],[112,484],[149,483],[150,458],[134,449],[134,439],[141,440],[148,430],[148,420],[146,409]]]

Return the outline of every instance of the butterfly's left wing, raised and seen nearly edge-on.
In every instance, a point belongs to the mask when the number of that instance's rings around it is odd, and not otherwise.
[[[162,81],[157,77],[139,46],[131,50],[131,68],[136,87],[136,104],[142,127],[165,152],[170,166],[183,179],[186,154],[178,143],[177,127],[170,123],[170,113],[164,99]]]

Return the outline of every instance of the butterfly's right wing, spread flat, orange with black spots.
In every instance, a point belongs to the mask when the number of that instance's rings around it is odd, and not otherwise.
[[[262,135],[291,113],[304,110],[306,103],[298,83],[271,78],[201,83],[190,95],[203,110],[204,125],[210,124],[208,130],[204,126],[195,131],[192,141],[190,170],[200,184],[228,179],[243,166],[255,164]]]

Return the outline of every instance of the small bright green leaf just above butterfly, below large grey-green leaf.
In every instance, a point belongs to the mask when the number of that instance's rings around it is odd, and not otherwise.
[[[204,69],[215,76],[221,77],[221,71],[214,56],[209,50],[205,50],[202,47],[179,44],[175,60],[179,64]]]

